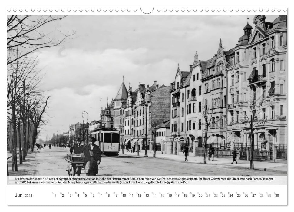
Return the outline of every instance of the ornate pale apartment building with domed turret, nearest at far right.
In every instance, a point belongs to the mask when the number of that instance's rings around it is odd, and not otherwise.
[[[226,68],[228,140],[250,143],[253,117],[255,144],[286,144],[287,16],[272,23],[256,15],[253,24],[247,22]]]

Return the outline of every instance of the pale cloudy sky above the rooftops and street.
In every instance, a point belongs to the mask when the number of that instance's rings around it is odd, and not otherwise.
[[[249,24],[254,16],[249,16]],[[272,22],[277,16],[268,16]],[[37,53],[45,74],[41,88],[49,105],[39,138],[45,140],[70,124],[99,120],[101,107],[115,97],[124,76],[126,87],[139,83],[170,85],[177,65],[189,71],[195,51],[200,60],[217,52],[220,38],[226,50],[243,35],[247,16],[68,16],[44,30],[75,31],[62,45]],[[87,121],[87,115],[84,115]]]

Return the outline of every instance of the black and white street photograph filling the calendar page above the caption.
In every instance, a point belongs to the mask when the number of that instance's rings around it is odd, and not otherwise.
[[[287,35],[264,12],[8,14],[7,175],[287,176]]]

